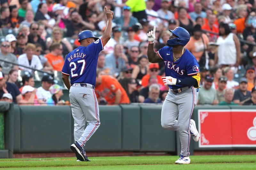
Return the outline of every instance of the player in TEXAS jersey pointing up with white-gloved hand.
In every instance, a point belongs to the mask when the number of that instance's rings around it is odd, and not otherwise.
[[[199,65],[196,58],[185,48],[190,39],[186,29],[176,27],[174,30],[169,30],[171,36],[167,46],[157,52],[153,48],[155,31],[156,27],[148,33],[148,61],[151,63],[164,61],[165,77],[162,79],[164,85],[169,86],[162,107],[161,125],[164,129],[179,131],[181,152],[180,158],[175,163],[189,164],[190,135],[196,142],[199,141],[195,121],[190,119],[198,98]]]

